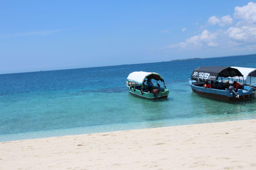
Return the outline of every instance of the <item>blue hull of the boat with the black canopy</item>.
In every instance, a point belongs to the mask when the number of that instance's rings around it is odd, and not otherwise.
[[[190,81],[190,86],[193,92],[200,96],[204,96],[207,98],[212,98],[212,99],[218,99],[218,100],[227,100],[227,101],[237,101],[237,100],[245,100],[245,99],[250,99],[252,97],[252,89],[248,88],[248,90],[242,90],[239,89],[237,94],[239,97],[235,97],[232,92],[229,90],[218,90],[218,89],[208,89],[204,87],[198,87],[195,86],[191,81]]]

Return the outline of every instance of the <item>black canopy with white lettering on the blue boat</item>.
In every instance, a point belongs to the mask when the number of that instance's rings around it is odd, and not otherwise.
[[[191,74],[191,79],[193,80],[205,80],[205,81],[215,81],[219,77],[243,77],[243,74],[235,68],[222,67],[222,66],[202,66],[198,67]]]

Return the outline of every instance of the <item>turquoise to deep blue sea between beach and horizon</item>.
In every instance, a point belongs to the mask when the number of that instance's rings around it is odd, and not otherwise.
[[[254,99],[194,94],[188,80],[199,66],[256,67],[256,55],[0,74],[0,142],[256,118]],[[125,81],[133,71],[161,74],[169,97],[129,94]]]

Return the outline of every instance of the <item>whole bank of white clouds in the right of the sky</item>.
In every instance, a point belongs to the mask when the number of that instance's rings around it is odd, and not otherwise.
[[[211,30],[206,29],[209,25],[219,25],[224,27],[231,25],[226,29]],[[212,27],[213,29],[214,27]],[[218,18],[212,15],[207,24],[199,28],[203,30],[195,36],[187,38],[185,41],[177,44],[171,44],[165,48],[181,48],[186,50],[193,49],[243,49],[254,50],[256,46],[256,3],[250,2],[242,7],[235,7],[234,16],[225,15]],[[165,49],[163,48],[163,49]]]

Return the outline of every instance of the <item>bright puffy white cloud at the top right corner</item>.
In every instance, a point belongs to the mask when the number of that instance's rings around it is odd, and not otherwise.
[[[235,7],[234,16],[236,19],[242,19],[247,23],[256,23],[256,4],[250,2],[243,7]]]

